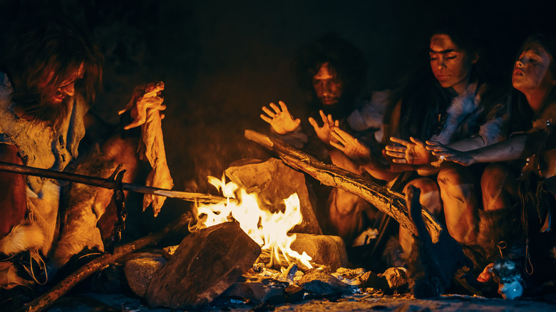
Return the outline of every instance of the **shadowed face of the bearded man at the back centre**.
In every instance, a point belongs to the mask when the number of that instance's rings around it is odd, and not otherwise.
[[[329,63],[322,64],[319,72],[313,76],[313,88],[322,105],[334,105],[339,102],[344,87]]]

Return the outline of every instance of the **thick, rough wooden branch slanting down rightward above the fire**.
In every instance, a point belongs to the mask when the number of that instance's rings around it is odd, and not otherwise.
[[[373,204],[376,209],[396,219],[402,227],[416,233],[416,229],[408,217],[406,201],[403,194],[394,192],[388,189],[388,187],[384,187],[380,184],[364,180],[363,177],[353,172],[320,162],[316,160],[315,157],[297,150],[273,137],[268,137],[267,135],[253,130],[245,130],[244,136],[276,152],[287,165],[294,169],[307,172],[307,174],[323,184],[331,187],[339,187],[346,192],[356,194],[365,199],[367,202]],[[428,212],[427,209],[423,209],[422,214],[434,241],[442,231],[441,224],[438,223],[433,214]]]

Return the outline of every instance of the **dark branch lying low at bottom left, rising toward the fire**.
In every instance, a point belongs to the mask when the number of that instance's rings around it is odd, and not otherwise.
[[[43,309],[48,308],[54,303],[58,298],[65,295],[71,288],[76,286],[79,282],[86,279],[91,274],[95,273],[104,266],[113,263],[114,261],[120,259],[121,257],[131,254],[133,251],[141,249],[145,246],[150,246],[158,243],[168,234],[178,232],[180,229],[187,229],[187,224],[190,218],[182,216],[179,222],[175,222],[170,227],[167,227],[163,231],[155,234],[150,234],[141,239],[137,239],[123,246],[118,246],[114,249],[113,254],[103,254],[96,259],[93,259],[88,264],[81,267],[77,271],[73,272],[70,276],[66,277],[60,281],[56,286],[53,286],[50,291],[44,293],[42,296],[36,298],[34,301],[27,303],[25,306],[19,308],[17,312],[34,312],[43,311]]]

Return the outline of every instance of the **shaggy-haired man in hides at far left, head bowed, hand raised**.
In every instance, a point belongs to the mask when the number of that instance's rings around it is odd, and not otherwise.
[[[103,123],[89,111],[88,103],[101,85],[103,56],[86,33],[55,16],[50,12],[22,19],[4,44],[0,161],[61,171],[83,161],[78,160],[78,151],[83,152],[78,147],[87,137],[98,143],[88,156],[97,166],[89,162],[88,171],[81,173],[108,177],[123,163],[129,173],[124,180],[131,182],[138,168],[137,137],[120,138],[118,126]],[[153,120],[153,113],[164,108],[161,90],[132,98],[128,106],[133,123],[126,128]],[[150,111],[148,118],[138,114],[138,106]],[[81,187],[73,205],[65,207],[66,214],[58,214],[58,182],[0,171],[0,288],[44,284],[46,261],[58,269],[81,249],[102,251],[97,221],[110,199],[110,191]]]

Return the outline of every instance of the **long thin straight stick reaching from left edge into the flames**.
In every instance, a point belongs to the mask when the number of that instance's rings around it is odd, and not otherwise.
[[[113,180],[103,179],[100,177],[91,177],[88,175],[78,175],[71,172],[60,172],[54,170],[41,169],[36,167],[27,167],[23,165],[14,165],[9,162],[0,162],[0,171],[21,173],[24,175],[33,175],[36,177],[48,177],[55,180],[65,180],[70,182],[77,182],[81,184],[93,185],[96,187],[104,187],[105,189],[114,189],[116,184]],[[151,194],[158,196],[165,196],[170,198],[187,200],[190,202],[202,202],[204,204],[217,204],[225,202],[226,197],[215,196],[211,194],[190,193],[173,191],[172,189],[160,189],[158,187],[147,187],[145,185],[123,183],[125,191],[137,192],[142,194]],[[230,199],[234,201],[235,199]]]

